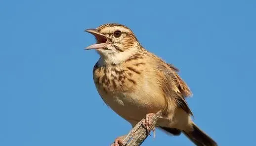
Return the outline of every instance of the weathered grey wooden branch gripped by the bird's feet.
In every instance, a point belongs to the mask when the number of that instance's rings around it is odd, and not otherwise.
[[[162,115],[162,111],[156,113],[152,117],[152,125],[155,127],[158,118]],[[123,139],[124,146],[140,146],[145,139],[148,137],[147,130],[142,126],[142,122],[145,121],[145,118],[143,118],[141,121],[139,121],[128,133],[128,135]],[[154,128],[152,127],[152,129]],[[111,146],[115,146],[114,143],[111,144]]]

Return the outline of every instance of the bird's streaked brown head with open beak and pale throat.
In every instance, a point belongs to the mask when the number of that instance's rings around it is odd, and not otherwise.
[[[141,49],[131,29],[121,24],[104,24],[85,31],[96,38],[96,43],[85,49],[96,49],[105,63],[120,63]]]

